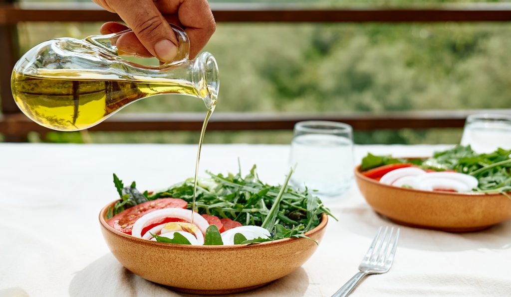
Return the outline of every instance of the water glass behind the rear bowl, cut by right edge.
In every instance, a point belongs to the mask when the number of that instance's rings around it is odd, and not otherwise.
[[[470,115],[463,128],[461,145],[471,145],[477,153],[490,153],[499,147],[511,149],[511,115]]]

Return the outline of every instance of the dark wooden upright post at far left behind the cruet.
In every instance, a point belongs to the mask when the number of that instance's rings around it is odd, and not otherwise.
[[[15,0],[0,0],[1,4],[12,4]],[[16,24],[0,24],[0,100],[2,114],[5,116],[19,113],[11,93],[11,74],[14,64],[18,60],[19,47]],[[24,142],[26,135],[10,133],[4,134],[5,141]]]

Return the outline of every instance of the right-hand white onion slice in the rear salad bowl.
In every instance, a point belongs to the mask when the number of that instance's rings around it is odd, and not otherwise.
[[[434,188],[452,188],[457,192],[470,192],[476,188],[479,182],[477,178],[463,173],[457,172],[430,172],[418,176],[415,179],[414,188],[426,190]]]

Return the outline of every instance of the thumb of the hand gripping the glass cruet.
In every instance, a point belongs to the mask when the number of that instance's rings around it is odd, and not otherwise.
[[[114,0],[110,6],[133,30],[142,45],[158,60],[170,62],[177,55],[177,38],[152,0]]]

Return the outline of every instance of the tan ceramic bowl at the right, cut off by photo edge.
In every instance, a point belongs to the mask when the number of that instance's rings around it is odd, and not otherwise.
[[[383,184],[355,168],[367,203],[388,219],[412,227],[449,232],[477,231],[511,218],[511,199],[502,194],[413,190]]]

